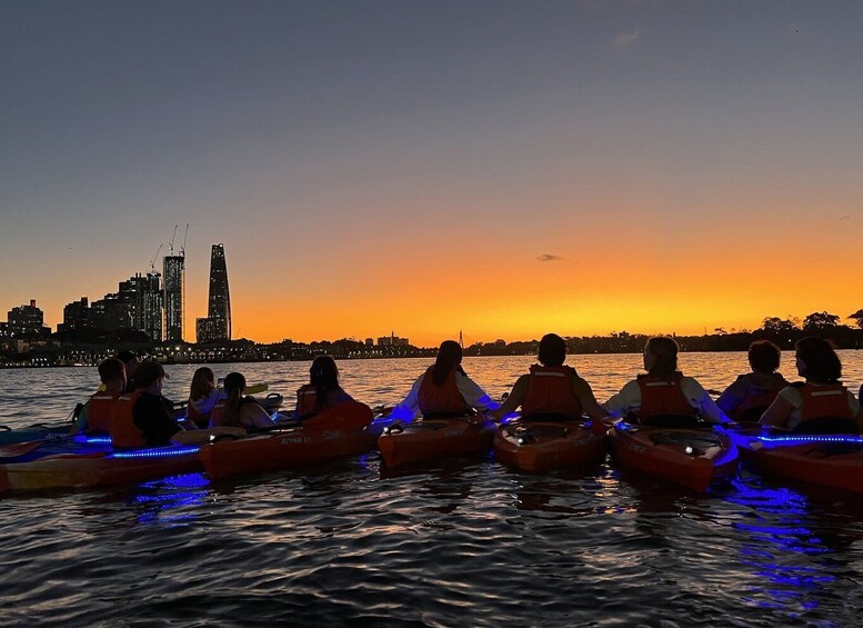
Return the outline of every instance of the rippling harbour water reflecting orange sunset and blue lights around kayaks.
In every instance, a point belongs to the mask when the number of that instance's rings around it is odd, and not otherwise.
[[[842,351],[856,392],[863,351]],[[641,356],[572,356],[600,401]],[[530,357],[465,359],[492,397]],[[340,363],[392,405],[425,359]],[[686,353],[705,388],[743,353]],[[169,366],[182,399],[193,366]],[[217,365],[290,397],[308,362]],[[782,371],[793,378],[793,358]],[[0,423],[66,418],[94,368],[2,371]],[[863,472],[863,470],[862,470]],[[0,500],[0,625],[855,626],[863,616],[859,496],[740,476],[708,496],[610,463],[543,476],[493,457],[403,472],[375,453],[303,471]]]

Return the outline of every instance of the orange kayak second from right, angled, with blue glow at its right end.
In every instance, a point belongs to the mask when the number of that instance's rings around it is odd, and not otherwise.
[[[737,469],[737,447],[727,435],[710,427],[663,428],[619,421],[608,439],[612,458],[621,467],[701,492]]]

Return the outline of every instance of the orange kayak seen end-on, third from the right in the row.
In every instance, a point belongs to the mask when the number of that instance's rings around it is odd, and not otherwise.
[[[523,471],[599,462],[602,437],[576,421],[512,421],[494,435],[494,457]]]

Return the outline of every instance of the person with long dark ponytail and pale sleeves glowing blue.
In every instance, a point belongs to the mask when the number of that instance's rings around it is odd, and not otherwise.
[[[413,382],[408,396],[393,408],[397,418],[464,417],[498,408],[485,391],[461,367],[462,349],[454,340],[444,340],[434,365]]]

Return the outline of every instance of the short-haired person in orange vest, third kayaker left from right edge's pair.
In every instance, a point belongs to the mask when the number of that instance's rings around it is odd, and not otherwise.
[[[501,419],[521,406],[522,419],[578,420],[582,413],[604,419],[609,413],[596,402],[593,390],[575,369],[564,366],[566,342],[556,333],[546,333],[540,340],[536,356],[528,375],[515,380],[512,392],[503,405],[491,412]]]

